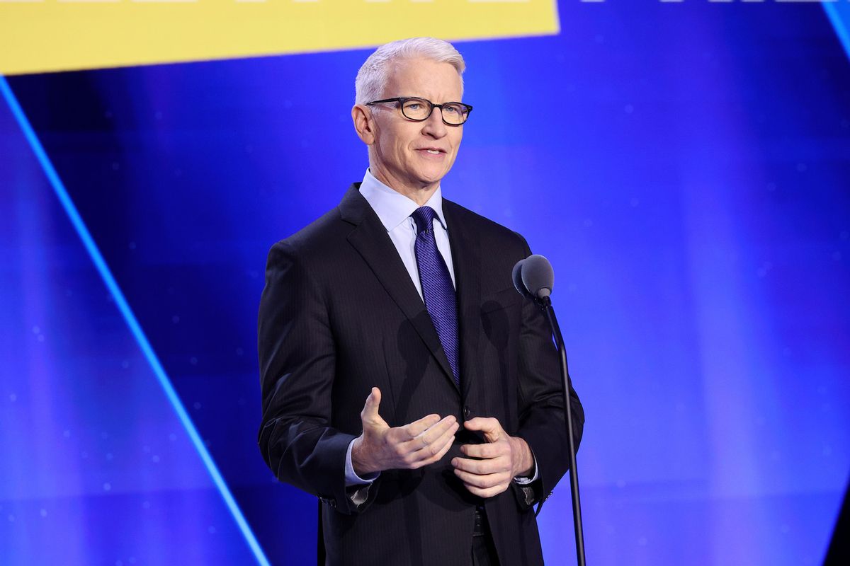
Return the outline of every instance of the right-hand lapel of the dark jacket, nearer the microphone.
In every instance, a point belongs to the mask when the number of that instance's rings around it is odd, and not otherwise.
[[[457,326],[461,341],[461,389],[462,397],[466,399],[478,371],[476,352],[481,334],[480,244],[470,219],[463,217],[461,207],[443,199],[443,214],[449,229],[451,261],[455,266]]]

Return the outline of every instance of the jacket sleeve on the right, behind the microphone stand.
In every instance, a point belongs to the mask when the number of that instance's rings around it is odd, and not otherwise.
[[[525,255],[531,255],[523,240]],[[570,448],[564,425],[564,401],[558,350],[549,323],[537,305],[524,300],[519,333],[519,431],[536,458],[539,478],[530,485],[512,482],[520,508],[527,509],[552,495],[570,467]],[[578,450],[584,428],[584,409],[570,384],[573,437]],[[531,491],[533,490],[533,494]],[[540,507],[538,507],[538,513]]]

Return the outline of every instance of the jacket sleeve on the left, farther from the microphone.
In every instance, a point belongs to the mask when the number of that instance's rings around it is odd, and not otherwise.
[[[354,434],[331,426],[336,356],[326,300],[291,244],[269,251],[258,314],[263,420],[258,444],[277,479],[357,513],[345,487]],[[377,489],[368,490],[369,499]]]

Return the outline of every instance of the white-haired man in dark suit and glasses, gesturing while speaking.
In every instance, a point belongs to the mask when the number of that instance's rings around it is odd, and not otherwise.
[[[326,563],[542,563],[533,505],[569,462],[558,360],[511,282],[524,239],[442,198],[464,67],[433,38],[372,53],[363,182],[269,253],[259,445],[319,496]]]

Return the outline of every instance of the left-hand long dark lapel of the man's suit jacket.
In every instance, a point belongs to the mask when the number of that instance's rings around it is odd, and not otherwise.
[[[449,359],[445,356],[443,346],[439,343],[437,331],[433,328],[431,317],[416,292],[416,286],[411,281],[410,273],[399,257],[387,230],[383,227],[375,211],[360,194],[360,183],[354,183],[345,193],[339,204],[339,211],[344,221],[354,224],[354,230],[348,234],[348,243],[363,257],[371,271],[375,273],[389,296],[394,300],[405,317],[411,322],[416,333],[428,346],[428,350],[437,360],[445,376],[452,384],[455,378],[451,374]],[[454,255],[452,249],[452,255]]]

